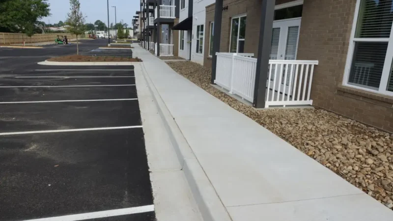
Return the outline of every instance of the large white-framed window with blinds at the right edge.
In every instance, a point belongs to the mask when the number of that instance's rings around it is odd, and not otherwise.
[[[393,0],[358,0],[344,85],[393,95]]]

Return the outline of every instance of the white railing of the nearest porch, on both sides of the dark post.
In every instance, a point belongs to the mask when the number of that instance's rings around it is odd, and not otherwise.
[[[256,58],[253,54],[217,53],[215,83],[253,102]],[[313,60],[269,60],[265,108],[312,105]],[[281,74],[280,74],[281,73]]]

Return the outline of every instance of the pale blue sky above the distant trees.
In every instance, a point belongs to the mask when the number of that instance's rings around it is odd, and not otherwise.
[[[50,4],[51,16],[43,18],[46,24],[55,24],[59,21],[65,21],[69,12],[68,0],[47,0]],[[86,17],[86,23],[93,23],[101,20],[108,26],[107,0],[80,0],[81,11]],[[116,6],[117,23],[123,20],[124,23],[131,27],[135,12],[140,10],[140,0],[109,0],[109,21],[114,24],[114,8]],[[49,22],[50,21],[50,22]]]

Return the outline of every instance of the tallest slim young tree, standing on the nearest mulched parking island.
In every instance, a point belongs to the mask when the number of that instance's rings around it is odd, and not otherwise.
[[[70,5],[70,12],[68,13],[65,24],[68,26],[68,32],[77,36],[77,55],[79,55],[78,35],[84,34],[86,27],[84,25],[84,16],[81,11],[81,3],[79,0],[70,0]]]

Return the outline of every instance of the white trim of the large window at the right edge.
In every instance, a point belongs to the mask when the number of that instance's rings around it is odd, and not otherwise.
[[[360,2],[361,0],[356,1],[356,6],[355,6],[355,15],[354,15],[354,20],[352,23],[352,30],[351,30],[351,37],[349,39],[349,47],[348,47],[348,54],[347,54],[347,60],[345,63],[345,69],[344,69],[344,77],[342,78],[342,85],[348,86],[348,87],[353,87],[365,91],[370,91],[378,94],[384,94],[384,95],[389,95],[393,96],[392,91],[388,91],[388,83],[389,83],[389,75],[391,71],[391,65],[393,62],[393,26],[390,32],[390,38],[379,38],[377,42],[389,42],[390,39],[392,39],[387,48],[386,56],[385,56],[385,63],[384,63],[384,68],[382,70],[382,76],[381,76],[381,82],[379,83],[379,88],[376,89],[371,89],[371,88],[366,88],[365,85],[363,86],[357,86],[354,83],[348,83],[349,80],[349,74],[351,71],[352,67],[352,58],[354,54],[354,49],[355,49],[355,41],[357,42],[376,42],[376,38],[355,38],[355,33],[356,33],[356,26],[358,23],[358,17],[359,17],[359,9],[360,9]],[[390,65],[389,65],[390,64]]]

